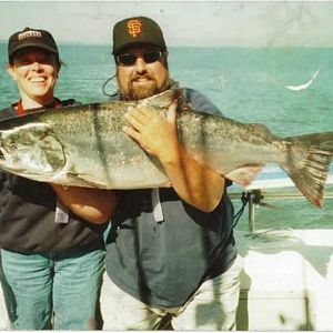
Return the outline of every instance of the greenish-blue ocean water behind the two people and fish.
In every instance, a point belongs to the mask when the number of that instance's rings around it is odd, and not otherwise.
[[[17,101],[14,82],[6,72],[7,46],[0,43],[0,109]],[[232,119],[266,124],[281,137],[333,131],[333,49],[320,48],[170,48],[169,68],[173,79],[206,94]],[[60,44],[65,63],[60,72],[57,95],[81,102],[108,101],[102,85],[114,74],[110,46]],[[286,85],[313,82],[304,90]],[[112,93],[115,80],[105,87]],[[331,165],[333,174],[333,167]],[[269,165],[260,178],[283,178],[284,173]],[[281,191],[294,191],[279,190]],[[333,186],[326,186],[333,193]],[[235,209],[240,199],[233,199]],[[256,228],[322,229],[333,226],[333,199],[325,199],[324,209],[305,199],[265,199],[275,209],[256,209]],[[248,229],[246,210],[236,226]]]

